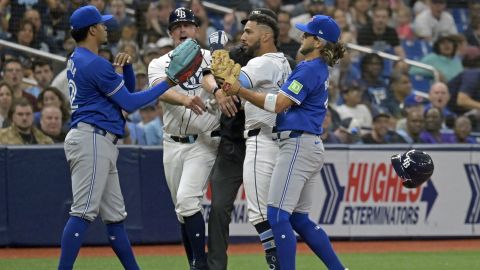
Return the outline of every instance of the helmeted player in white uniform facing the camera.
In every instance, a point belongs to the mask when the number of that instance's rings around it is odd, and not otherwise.
[[[193,12],[177,8],[170,14],[169,31],[175,46],[198,35]],[[202,50],[204,61],[189,81],[172,87],[161,98],[164,122],[163,164],[168,188],[181,224],[183,244],[190,269],[207,269],[205,221],[202,199],[220,141],[220,113],[205,111],[211,97],[201,86],[202,70],[211,62],[210,52]],[[170,53],[152,60],[148,67],[151,86],[165,78]]]

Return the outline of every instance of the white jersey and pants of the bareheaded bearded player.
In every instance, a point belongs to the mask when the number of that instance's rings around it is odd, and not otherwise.
[[[250,80],[251,91],[276,94],[291,69],[283,53],[267,53],[251,59],[241,72]],[[245,129],[268,127],[265,131],[269,133],[275,126],[276,116],[250,102],[245,103]],[[266,220],[270,179],[278,155],[278,144],[267,133],[249,137],[246,141],[243,185],[248,218],[253,225]]]

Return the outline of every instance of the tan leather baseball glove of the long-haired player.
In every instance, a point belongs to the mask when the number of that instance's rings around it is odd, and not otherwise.
[[[235,63],[226,50],[216,50],[212,54],[212,73],[217,82],[221,82],[222,89],[228,95],[236,95],[240,89],[238,77],[240,65]]]

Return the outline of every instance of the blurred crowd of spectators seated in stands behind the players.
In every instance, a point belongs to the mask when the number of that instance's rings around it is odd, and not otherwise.
[[[377,53],[350,50],[331,70],[325,143],[476,143],[480,132],[480,1],[478,0],[212,0],[234,12],[208,10],[201,0],[0,0],[0,39],[66,56],[75,41],[69,17],[94,5],[107,22],[99,54],[133,59],[136,90],[148,86],[148,64],[173,49],[168,17],[177,6],[199,20],[199,43],[224,30],[239,44],[240,21],[257,7],[278,15],[278,49],[291,61],[301,35],[295,23],[332,16],[341,41],[433,66],[439,76]],[[65,68],[66,64],[62,68]],[[66,70],[48,59],[0,46],[0,144],[62,143],[69,129]],[[58,69],[58,70],[57,70]],[[162,108],[152,103],[127,114],[124,144],[161,145]],[[480,137],[480,136],[478,136]]]

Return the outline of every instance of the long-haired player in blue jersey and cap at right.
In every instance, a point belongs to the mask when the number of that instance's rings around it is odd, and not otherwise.
[[[224,84],[228,94],[240,94],[252,104],[277,113],[280,153],[272,174],[267,216],[272,226],[280,269],[295,269],[295,230],[328,269],[345,269],[320,226],[308,218],[315,186],[320,183],[324,148],[320,139],[328,104],[328,66],[343,57],[340,28],[330,17],[316,15],[303,31],[300,53],[305,56],[278,94],[249,91]]]

